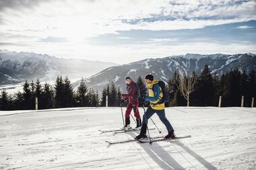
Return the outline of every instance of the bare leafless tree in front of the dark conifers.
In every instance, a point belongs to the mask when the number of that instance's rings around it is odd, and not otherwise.
[[[187,100],[187,107],[189,107],[189,96],[193,91],[195,91],[196,79],[197,77],[195,73],[192,73],[189,76],[185,76],[182,79],[177,79],[177,81],[179,82],[179,89]]]

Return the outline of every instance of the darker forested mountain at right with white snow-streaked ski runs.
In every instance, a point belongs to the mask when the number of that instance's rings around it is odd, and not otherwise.
[[[87,81],[90,87],[99,91],[111,81],[125,90],[124,78],[127,75],[137,81],[139,75],[143,78],[146,74],[152,73],[156,79],[167,82],[174,71],[182,76],[193,71],[200,75],[205,65],[210,66],[212,73],[222,74],[235,68],[248,73],[253,69],[256,70],[256,54],[185,54],[156,59],[148,58],[129,65],[110,67],[90,77]]]

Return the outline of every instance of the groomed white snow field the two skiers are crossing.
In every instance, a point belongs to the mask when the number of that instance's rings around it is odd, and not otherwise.
[[[108,145],[138,134],[98,131],[123,126],[120,108],[0,112],[0,169],[256,169],[256,108],[167,108],[166,116],[177,136],[192,137]]]

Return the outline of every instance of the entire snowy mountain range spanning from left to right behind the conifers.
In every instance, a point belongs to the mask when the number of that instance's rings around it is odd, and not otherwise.
[[[209,65],[212,73],[217,75],[236,68],[249,73],[256,70],[256,54],[185,54],[117,65],[111,62],[57,58],[34,52],[0,50],[0,85],[36,79],[54,81],[57,75],[62,75],[76,80],[87,77],[86,85],[93,87],[94,91],[102,91],[112,81],[121,91],[125,91],[124,79],[128,75],[137,81],[139,76],[143,78],[152,73],[156,79],[167,82],[175,71],[181,76],[193,71],[200,75],[205,65]],[[79,81],[73,83],[74,88],[78,85]]]

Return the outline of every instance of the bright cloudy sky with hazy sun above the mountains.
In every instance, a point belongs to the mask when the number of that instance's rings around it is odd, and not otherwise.
[[[126,64],[255,42],[256,0],[0,0],[0,50]]]

